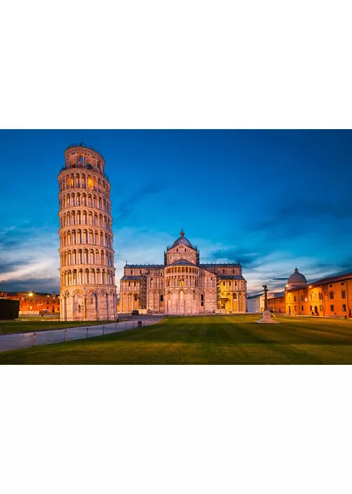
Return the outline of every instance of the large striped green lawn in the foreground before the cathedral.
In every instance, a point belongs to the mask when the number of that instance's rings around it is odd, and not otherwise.
[[[0,363],[352,364],[352,321],[258,315],[168,318],[104,337],[0,353]]]

